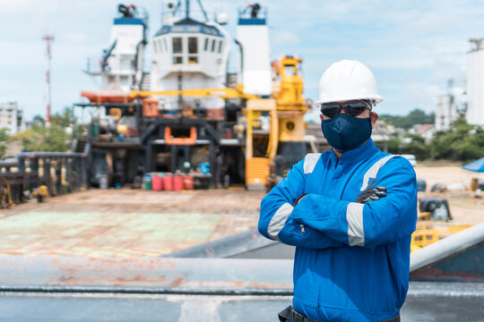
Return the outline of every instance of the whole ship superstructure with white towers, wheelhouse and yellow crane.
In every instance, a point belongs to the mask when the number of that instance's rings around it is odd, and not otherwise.
[[[147,15],[134,5],[118,6],[99,69],[88,71],[100,76],[102,89],[83,91],[90,103],[76,104],[97,107],[78,140],[91,147],[94,185],[106,176],[110,186],[122,186],[144,174],[203,168],[213,188],[245,183],[264,190],[274,159],[281,176],[306,154],[302,60],[282,55],[271,63],[267,9],[239,8],[232,39],[222,28],[227,16],[210,21],[197,3],[199,16],[189,0],[170,4],[150,39]],[[227,72],[232,40],[240,54],[238,75]],[[143,72],[146,45],[149,72]]]

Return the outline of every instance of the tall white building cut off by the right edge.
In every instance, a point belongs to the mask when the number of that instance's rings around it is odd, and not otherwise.
[[[471,38],[467,54],[467,123],[484,125],[484,38]]]

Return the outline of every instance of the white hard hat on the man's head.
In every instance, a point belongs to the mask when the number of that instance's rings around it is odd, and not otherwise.
[[[372,104],[383,101],[377,93],[373,72],[358,61],[342,60],[332,64],[319,80],[319,100],[315,106],[353,99],[367,99]]]

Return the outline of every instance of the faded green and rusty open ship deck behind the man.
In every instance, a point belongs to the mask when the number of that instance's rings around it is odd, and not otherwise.
[[[31,202],[2,209],[0,254],[160,257],[255,228],[260,198],[237,190],[121,190]]]

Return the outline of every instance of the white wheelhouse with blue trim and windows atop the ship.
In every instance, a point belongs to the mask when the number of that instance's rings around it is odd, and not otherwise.
[[[181,16],[178,2],[151,38],[151,91],[226,87],[230,37],[218,22],[208,21],[199,4],[204,21],[194,20],[189,10]],[[189,8],[189,1],[185,6]],[[183,108],[177,97],[155,97],[164,109]],[[184,97],[182,104],[207,109],[225,106],[219,97]]]

